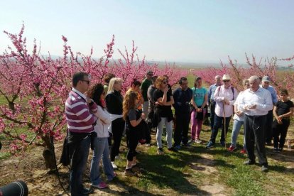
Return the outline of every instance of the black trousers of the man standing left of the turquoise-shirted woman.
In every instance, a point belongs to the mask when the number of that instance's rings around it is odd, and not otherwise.
[[[189,131],[190,114],[175,115],[175,133],[173,134],[174,146],[180,146],[180,142],[187,144]]]

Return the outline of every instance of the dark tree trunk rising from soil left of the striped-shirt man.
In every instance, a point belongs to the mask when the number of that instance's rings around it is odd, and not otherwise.
[[[50,140],[50,136],[46,135],[43,137],[45,141],[45,149],[43,151],[43,158],[45,159],[45,165],[47,169],[55,170],[55,156],[54,156],[54,149],[52,148],[52,143]],[[53,140],[52,140],[53,141]]]

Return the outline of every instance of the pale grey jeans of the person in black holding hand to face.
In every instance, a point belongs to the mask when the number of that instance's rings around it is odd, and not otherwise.
[[[163,125],[165,124],[166,128],[166,141],[168,143],[168,148],[173,147],[173,121],[168,122],[168,118],[162,117],[160,122],[157,126],[157,132],[156,132],[156,141],[157,141],[157,147],[163,148],[163,143],[161,142],[161,137],[163,136]]]

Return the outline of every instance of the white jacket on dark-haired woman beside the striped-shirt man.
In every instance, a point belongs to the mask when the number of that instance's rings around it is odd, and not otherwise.
[[[108,127],[111,124],[110,114],[107,112],[106,109],[103,109],[102,107],[98,106],[95,116],[97,116],[98,118],[97,124],[94,126],[94,131],[97,133],[97,137],[108,138]]]

